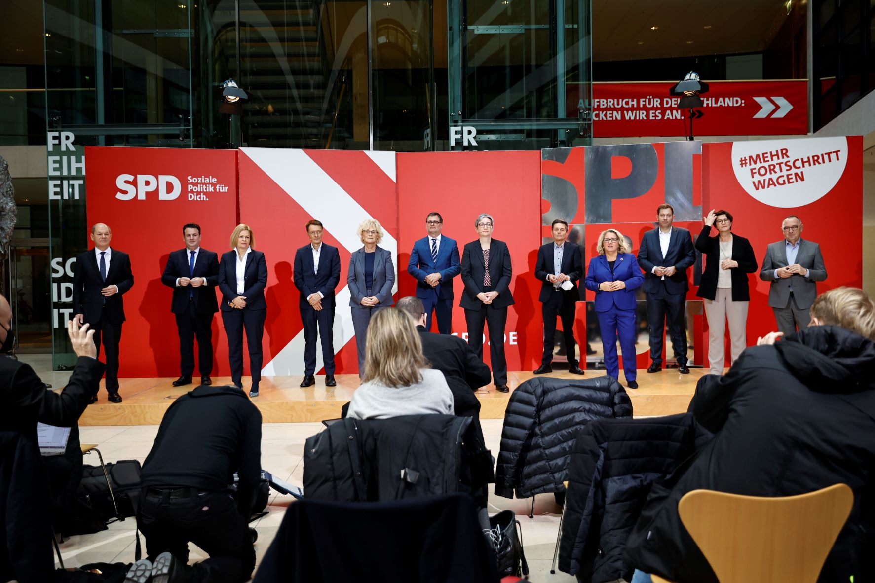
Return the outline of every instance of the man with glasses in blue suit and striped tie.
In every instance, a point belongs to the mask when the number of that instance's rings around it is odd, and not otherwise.
[[[425,218],[429,236],[419,239],[410,252],[407,273],[416,278],[416,297],[425,307],[425,329],[431,331],[431,312],[437,312],[437,331],[450,334],[452,328],[452,278],[459,274],[456,241],[444,237],[444,218],[430,212]]]

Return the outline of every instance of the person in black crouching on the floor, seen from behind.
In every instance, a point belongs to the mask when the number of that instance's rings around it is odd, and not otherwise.
[[[261,479],[262,414],[235,385],[201,385],[167,409],[143,464],[138,525],[170,583],[242,583],[255,567],[248,529]],[[228,485],[237,483],[236,501]],[[209,559],[188,562],[188,543]],[[156,573],[153,571],[152,573]]]

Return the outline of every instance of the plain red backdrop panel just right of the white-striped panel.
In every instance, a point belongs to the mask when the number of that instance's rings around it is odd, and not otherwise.
[[[541,283],[535,279],[535,260],[541,236],[541,153],[429,152],[398,154],[398,215],[402,239],[400,295],[415,295],[416,280],[407,273],[410,250],[426,235],[425,217],[440,212],[443,234],[456,239],[459,258],[465,246],[477,239],[475,219],[481,212],[493,216],[493,237],[505,241],[513,263],[510,283],[514,306],[507,311],[505,354],[508,371],[534,370],[540,362],[542,342]],[[461,276],[453,279],[455,294],[452,333],[467,338],[465,310],[458,307],[463,293]],[[432,329],[436,324],[432,323]],[[486,339],[489,338],[488,332]],[[489,347],[483,358],[489,362]]]

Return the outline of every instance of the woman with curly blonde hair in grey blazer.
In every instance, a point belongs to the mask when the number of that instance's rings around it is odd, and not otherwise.
[[[364,373],[367,324],[377,311],[395,304],[392,286],[395,265],[392,253],[377,246],[382,240],[380,223],[367,219],[359,226],[359,237],[365,245],[349,258],[346,285],[349,286],[349,306],[353,309],[355,345],[359,352],[359,376]]]

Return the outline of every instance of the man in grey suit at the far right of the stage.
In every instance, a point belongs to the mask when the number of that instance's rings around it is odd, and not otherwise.
[[[778,330],[793,334],[809,325],[809,309],[817,297],[816,281],[826,279],[820,246],[802,239],[802,220],[789,215],[781,224],[784,239],[771,243],[760,269],[760,279],[771,282],[768,305],[774,309]]]

